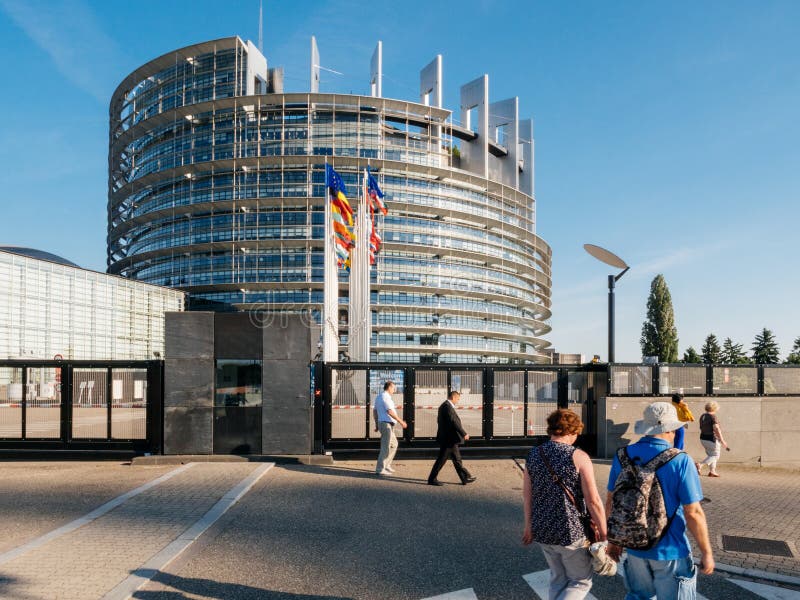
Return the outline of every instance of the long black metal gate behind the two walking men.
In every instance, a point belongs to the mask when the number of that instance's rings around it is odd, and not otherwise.
[[[468,446],[531,446],[546,439],[546,418],[559,407],[581,415],[579,445],[596,446],[596,399],[608,389],[605,365],[317,363],[314,368],[316,451],[375,449],[372,403],[386,381],[408,428],[396,429],[401,447],[436,445],[436,416],[448,392],[470,436]]]

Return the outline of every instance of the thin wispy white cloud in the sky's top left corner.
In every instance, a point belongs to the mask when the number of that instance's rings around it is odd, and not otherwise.
[[[66,79],[103,104],[109,101],[104,71],[119,48],[82,0],[0,0],[0,8]]]

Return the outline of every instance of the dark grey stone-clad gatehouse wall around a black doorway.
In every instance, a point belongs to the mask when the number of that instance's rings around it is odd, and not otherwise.
[[[262,326],[247,313],[168,313],[164,360],[164,453],[214,451],[215,361],[261,359],[262,454],[309,454],[309,363],[319,328],[300,316]]]

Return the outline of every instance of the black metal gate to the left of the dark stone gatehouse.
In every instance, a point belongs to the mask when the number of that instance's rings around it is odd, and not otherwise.
[[[160,453],[161,361],[0,361],[0,452]]]

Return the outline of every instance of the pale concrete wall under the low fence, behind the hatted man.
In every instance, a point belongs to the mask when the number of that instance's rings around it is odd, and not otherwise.
[[[597,455],[611,458],[617,448],[639,439],[634,423],[651,402],[669,398],[621,397],[601,398],[597,405]],[[764,467],[800,468],[800,397],[736,397],[685,398],[695,422],[686,431],[686,451],[702,459],[697,421],[709,400],[720,405],[717,416],[722,435],[731,447],[722,451],[720,464],[761,465]]]

